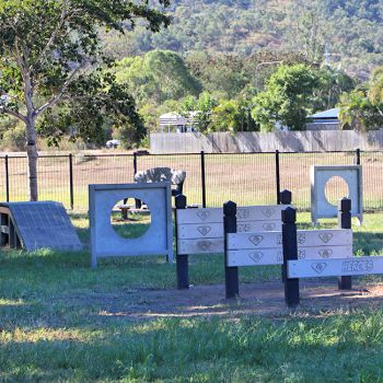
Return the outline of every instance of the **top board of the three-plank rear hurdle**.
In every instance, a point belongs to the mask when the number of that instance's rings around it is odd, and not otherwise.
[[[237,222],[281,221],[281,211],[290,205],[244,206],[236,209]],[[222,208],[177,209],[177,223],[222,223]]]

